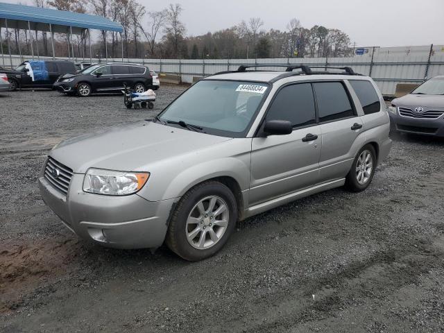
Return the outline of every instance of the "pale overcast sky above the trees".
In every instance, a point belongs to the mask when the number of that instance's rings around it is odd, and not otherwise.
[[[0,0],[17,3],[17,0]],[[147,11],[180,3],[187,35],[203,35],[260,17],[263,28],[339,28],[357,46],[444,44],[444,0],[137,0]],[[32,0],[21,0],[31,4]]]

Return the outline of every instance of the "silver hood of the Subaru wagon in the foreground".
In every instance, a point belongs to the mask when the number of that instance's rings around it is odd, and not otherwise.
[[[145,167],[150,162],[197,153],[200,149],[230,139],[139,121],[66,139],[49,155],[74,173],[85,173],[91,167],[146,171]]]

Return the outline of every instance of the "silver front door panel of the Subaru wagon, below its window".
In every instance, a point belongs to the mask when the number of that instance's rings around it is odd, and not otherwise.
[[[318,135],[302,142],[307,134]],[[319,178],[321,129],[311,126],[289,135],[255,137],[251,147],[249,205],[315,185]]]

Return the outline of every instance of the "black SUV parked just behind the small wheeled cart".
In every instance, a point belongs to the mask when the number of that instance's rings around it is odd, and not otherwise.
[[[65,94],[87,97],[95,92],[119,92],[127,85],[135,92],[157,89],[148,67],[137,64],[108,63],[92,65],[77,74],[58,78],[54,88]]]

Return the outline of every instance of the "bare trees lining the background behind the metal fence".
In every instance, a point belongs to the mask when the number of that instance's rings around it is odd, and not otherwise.
[[[187,36],[179,3],[149,12],[135,0],[33,1],[37,7],[99,15],[121,24],[121,34],[101,32],[101,38],[92,44],[93,58],[105,57],[105,43],[108,57],[120,58],[122,42],[124,58],[307,58],[352,54],[350,37],[343,31],[318,25],[304,28],[296,18],[289,21],[284,31],[273,28],[266,31],[264,21],[252,17],[221,31]],[[45,32],[33,36],[40,55],[51,54],[49,37]],[[6,38],[12,41],[12,52],[25,54],[30,49],[31,36],[27,31],[10,29]],[[56,34],[55,48],[57,56],[67,56],[71,50],[78,58],[83,54],[89,56],[86,35],[69,38]]]

